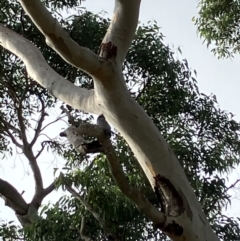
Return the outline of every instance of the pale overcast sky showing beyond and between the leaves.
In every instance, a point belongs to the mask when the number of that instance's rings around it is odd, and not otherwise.
[[[82,3],[82,6],[89,11],[95,13],[99,13],[102,10],[106,11],[110,14],[109,17],[111,16],[113,5],[113,0],[87,0]],[[235,119],[239,121],[240,57],[236,56],[234,59],[219,60],[207,49],[206,45],[202,43],[203,40],[198,36],[196,26],[192,22],[192,17],[197,16],[197,12],[197,1],[193,0],[144,0],[142,1],[139,20],[142,23],[146,23],[149,20],[157,21],[165,36],[164,42],[173,49],[180,47],[182,55],[179,53],[177,57],[179,59],[186,58],[189,66],[197,71],[200,91],[205,94],[214,93],[217,96],[220,107],[235,114]],[[60,129],[57,129],[53,136],[56,136],[59,132]],[[0,176],[7,181],[11,180],[11,183],[18,187],[20,192],[27,189],[23,196],[27,201],[30,201],[34,189],[31,170],[28,164],[24,162],[24,158],[20,161],[16,161],[16,159],[17,157],[11,158],[7,165],[2,163]],[[49,185],[53,180],[52,167],[57,167],[58,165],[53,155],[48,156],[47,160],[43,158],[41,161],[41,169],[46,173],[44,176],[49,177],[49,179],[44,180],[45,186]],[[238,172],[235,171],[229,176],[229,183],[233,183],[237,177],[240,177],[240,175],[238,176]],[[57,199],[55,192],[49,195],[44,202],[47,203],[54,199]],[[233,200],[232,206],[227,213],[239,216],[240,211],[234,208],[234,206],[240,206],[239,200]],[[0,218],[15,220],[14,213],[9,208],[4,207],[2,200],[0,200]]]

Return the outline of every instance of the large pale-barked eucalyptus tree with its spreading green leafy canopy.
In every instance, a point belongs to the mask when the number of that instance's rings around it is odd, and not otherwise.
[[[137,27],[139,7],[116,0],[109,23],[77,9],[77,1],[1,2],[1,150],[16,145],[35,181],[27,203],[0,180],[24,227],[3,225],[10,240],[239,237],[238,223],[222,214],[230,197],[220,175],[238,164],[239,124],[215,96],[199,93],[194,71],[174,59],[155,23]],[[78,11],[64,19],[58,11],[66,9]],[[48,108],[60,105],[71,124],[61,136],[71,146],[44,140],[34,151]],[[103,114],[113,138],[84,113]],[[46,147],[65,158],[66,172],[44,188],[37,160]],[[39,213],[55,187],[71,197]]]

